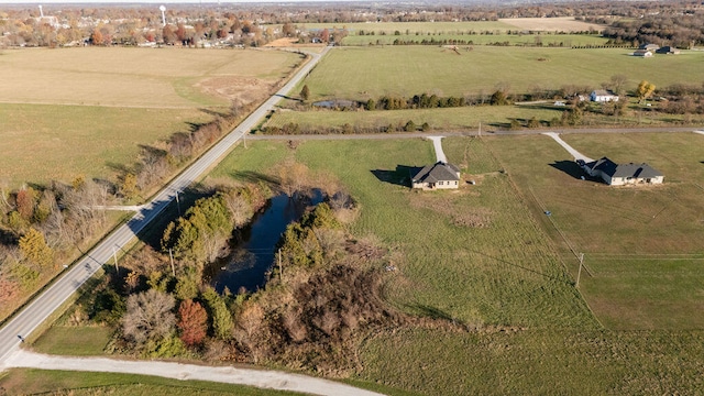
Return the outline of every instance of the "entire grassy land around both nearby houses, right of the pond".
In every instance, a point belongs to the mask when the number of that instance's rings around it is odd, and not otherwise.
[[[704,183],[702,136],[564,139],[587,155],[647,161],[667,184],[636,190],[581,180],[562,163],[569,154],[541,135],[447,139],[449,160],[476,182],[459,191],[420,194],[382,182],[398,180],[398,165],[435,160],[420,139],[307,141],[295,150],[254,141],[209,177],[256,180],[290,157],[332,176],[362,209],[350,230],[391,249],[398,271],[387,275],[389,302],[477,329],[400,328],[371,337],[360,351],[358,385],[424,395],[701,393],[704,332],[693,315],[701,310],[701,258],[679,254],[702,254],[702,195],[690,189]],[[600,200],[618,210],[600,210]],[[668,216],[649,223],[663,204]],[[580,227],[588,221],[587,230]],[[634,222],[645,229],[630,235]],[[652,240],[650,232],[658,232],[657,246],[620,257],[624,246]],[[583,274],[579,290],[569,246],[586,253],[593,274]],[[679,258],[648,257],[662,249]]]

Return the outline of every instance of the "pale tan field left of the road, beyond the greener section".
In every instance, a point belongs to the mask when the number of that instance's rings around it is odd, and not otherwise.
[[[145,108],[228,107],[223,91],[275,84],[299,62],[276,51],[85,47],[3,52],[0,102]],[[206,91],[202,84],[219,82]],[[255,87],[256,88],[256,87]]]

